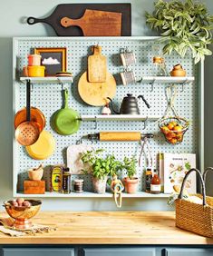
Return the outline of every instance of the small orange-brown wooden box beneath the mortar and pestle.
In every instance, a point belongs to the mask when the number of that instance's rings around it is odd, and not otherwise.
[[[45,193],[45,181],[24,181],[24,193]]]

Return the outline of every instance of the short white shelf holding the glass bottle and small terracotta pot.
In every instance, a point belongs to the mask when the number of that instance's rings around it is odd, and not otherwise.
[[[154,84],[188,84],[195,81],[194,76],[142,76],[140,83],[154,83]]]

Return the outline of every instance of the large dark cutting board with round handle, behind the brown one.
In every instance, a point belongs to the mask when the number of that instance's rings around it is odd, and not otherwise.
[[[27,23],[45,23],[51,25],[57,35],[60,36],[82,36],[82,29],[78,26],[63,27],[61,19],[66,16],[72,19],[82,17],[86,9],[121,13],[121,35],[131,35],[131,4],[63,4],[57,5],[52,15],[37,19],[29,17]],[[111,28],[113,29],[113,28]]]

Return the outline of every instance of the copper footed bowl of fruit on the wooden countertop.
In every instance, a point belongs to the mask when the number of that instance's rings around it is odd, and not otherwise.
[[[14,227],[18,230],[32,227],[31,218],[39,212],[42,202],[40,200],[24,200],[17,198],[4,202],[5,211],[15,219]]]

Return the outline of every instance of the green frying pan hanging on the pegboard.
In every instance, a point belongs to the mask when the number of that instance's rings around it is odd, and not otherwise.
[[[76,133],[81,125],[79,113],[68,107],[68,90],[63,90],[64,108],[53,114],[53,128],[61,135]]]

